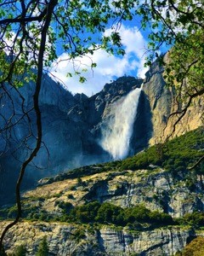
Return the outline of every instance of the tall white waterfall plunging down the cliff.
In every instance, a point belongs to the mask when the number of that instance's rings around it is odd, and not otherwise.
[[[114,106],[111,118],[102,128],[100,145],[114,160],[124,159],[129,152],[141,90],[142,87],[130,91],[121,104]]]

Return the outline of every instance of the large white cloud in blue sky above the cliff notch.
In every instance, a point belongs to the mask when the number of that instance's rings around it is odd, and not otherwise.
[[[144,78],[144,73],[146,72],[144,68],[146,42],[141,32],[138,31],[136,26],[122,26],[119,32],[121,34],[122,44],[126,50],[126,55],[109,55],[105,50],[99,49],[94,52],[94,55],[82,56],[73,62],[61,61],[69,58],[68,55],[62,54],[59,56],[58,65],[53,67],[51,73],[63,81],[71,92],[85,93],[88,96],[102,90],[105,83],[109,83],[114,77],[127,74]],[[107,33],[110,33],[110,30],[107,30]],[[92,61],[97,63],[94,73],[90,69]],[[87,79],[84,84],[79,83],[78,76],[73,75],[72,78],[66,76],[66,73],[73,73],[73,65],[79,72],[84,68],[88,68],[88,72],[82,73]]]

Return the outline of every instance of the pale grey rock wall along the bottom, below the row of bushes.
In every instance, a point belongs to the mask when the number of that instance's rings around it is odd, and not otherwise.
[[[1,228],[4,224],[1,224]],[[80,237],[78,236],[79,231],[83,234]],[[196,234],[195,230],[178,227],[130,232],[125,229],[115,230],[105,226],[99,230],[92,230],[82,225],[23,222],[8,231],[4,247],[7,253],[13,253],[16,247],[25,245],[26,255],[32,256],[37,252],[37,247],[44,236],[48,241],[48,255],[157,256],[174,255]],[[204,234],[200,233],[200,236],[204,236]]]

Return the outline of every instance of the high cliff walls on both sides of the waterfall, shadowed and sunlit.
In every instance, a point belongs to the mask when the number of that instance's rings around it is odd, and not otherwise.
[[[41,177],[47,177],[77,166],[112,160],[111,155],[100,146],[102,129],[111,119],[111,108],[118,106],[127,94],[144,83],[139,97],[137,115],[133,122],[133,134],[129,143],[129,155],[147,148],[149,144],[163,141],[171,131],[171,125],[165,134],[167,116],[173,110],[173,92],[165,87],[162,79],[163,69],[154,63],[146,73],[146,79],[122,77],[111,84],[105,84],[103,90],[88,98],[77,94],[72,96],[61,85],[56,84],[47,75],[42,81],[40,109],[42,112],[42,148],[26,171],[24,188],[30,188]],[[13,198],[14,182],[20,165],[35,147],[36,116],[32,107],[33,84],[20,88],[20,94],[14,88],[6,87],[13,99],[0,88],[0,129],[6,120],[12,123],[11,130],[0,133],[0,202]],[[29,119],[22,113],[29,112]],[[194,115],[187,113],[188,125],[178,125],[176,135],[195,129],[201,125],[201,113],[204,104],[201,100],[195,104]],[[14,116],[12,115],[13,113]]]

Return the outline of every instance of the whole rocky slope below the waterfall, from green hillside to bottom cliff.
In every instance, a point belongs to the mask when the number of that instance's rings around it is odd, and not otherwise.
[[[127,160],[43,179],[37,189],[24,194],[24,216],[29,221],[8,232],[7,252],[25,244],[28,255],[34,255],[47,236],[50,255],[174,255],[196,236],[204,236],[203,167],[193,171],[187,167],[200,157],[203,147],[203,129],[199,129],[163,145],[162,155],[152,147]],[[140,168],[144,163],[146,168]],[[74,218],[81,216],[80,221],[71,220],[72,209],[92,201],[122,209],[146,207],[158,221],[114,224],[111,219],[105,223],[94,217],[86,221],[82,216],[88,210],[82,215],[73,213]],[[159,212],[172,216],[173,222],[167,223]],[[14,213],[14,207],[1,210],[8,218]],[[0,227],[5,224],[3,221]],[[29,238],[25,241],[25,237]]]

